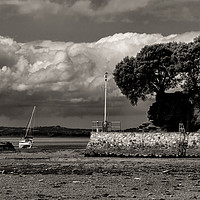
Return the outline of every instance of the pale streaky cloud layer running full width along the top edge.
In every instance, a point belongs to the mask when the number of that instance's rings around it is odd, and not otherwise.
[[[67,15],[76,18],[93,17],[91,20],[123,22],[134,21],[134,12],[156,17],[158,20],[199,22],[199,0],[1,0],[0,9],[9,15]],[[138,13],[139,11],[139,13]]]

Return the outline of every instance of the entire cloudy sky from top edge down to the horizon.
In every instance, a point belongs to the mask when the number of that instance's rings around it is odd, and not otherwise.
[[[122,129],[147,121],[154,102],[132,106],[113,70],[145,45],[191,42],[200,35],[200,0],[1,0],[0,126],[91,128],[103,120]]]

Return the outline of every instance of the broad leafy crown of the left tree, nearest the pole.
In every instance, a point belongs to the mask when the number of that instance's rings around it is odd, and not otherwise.
[[[136,105],[148,95],[157,98],[178,84],[177,59],[173,50],[177,43],[145,46],[136,56],[126,57],[116,65],[114,80],[122,94]]]

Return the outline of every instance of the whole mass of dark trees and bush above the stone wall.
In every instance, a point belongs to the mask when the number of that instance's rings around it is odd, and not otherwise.
[[[113,75],[132,105],[155,96],[148,111],[154,125],[169,131],[177,131],[179,122],[192,131],[200,127],[200,37],[189,44],[145,46],[136,57],[118,63]],[[172,89],[181,91],[172,95]]]

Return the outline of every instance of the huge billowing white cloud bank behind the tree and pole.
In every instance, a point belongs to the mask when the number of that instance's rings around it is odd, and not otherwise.
[[[11,113],[14,108],[39,105],[48,116],[99,115],[103,107],[103,76],[107,71],[112,114],[125,114],[119,109],[125,98],[112,79],[115,65],[125,56],[135,56],[144,45],[190,42],[198,35],[200,32],[166,37],[119,33],[94,43],[17,43],[0,37],[0,113],[15,118]],[[8,107],[13,109],[8,111]],[[135,112],[144,111],[137,108]]]

